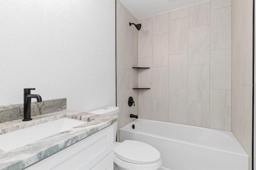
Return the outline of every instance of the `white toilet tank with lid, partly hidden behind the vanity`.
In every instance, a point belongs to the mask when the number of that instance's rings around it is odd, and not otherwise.
[[[106,115],[106,116],[112,116],[112,117],[117,117],[118,118],[118,113],[119,113],[119,107],[116,106],[109,106],[109,107],[104,107],[102,109],[97,109],[94,111],[90,111],[88,113],[94,113],[94,114],[98,114],[98,115]],[[113,141],[116,141],[116,132],[117,132],[117,122],[115,122],[114,124],[114,132],[113,132],[113,136],[114,139]]]

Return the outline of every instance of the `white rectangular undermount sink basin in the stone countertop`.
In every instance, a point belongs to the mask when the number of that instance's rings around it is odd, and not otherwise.
[[[46,138],[53,134],[63,132],[72,127],[76,127],[85,123],[85,121],[64,117],[55,121],[50,121],[40,125],[34,125],[32,127],[1,134],[0,149],[4,151],[10,151],[16,148],[20,148],[26,144],[30,144],[42,138]]]

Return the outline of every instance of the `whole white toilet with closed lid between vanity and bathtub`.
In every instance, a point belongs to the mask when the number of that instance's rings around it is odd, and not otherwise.
[[[89,113],[118,117],[119,108],[105,107]],[[114,125],[114,170],[157,170],[162,165],[160,152],[153,146],[136,140],[116,142],[117,122]]]

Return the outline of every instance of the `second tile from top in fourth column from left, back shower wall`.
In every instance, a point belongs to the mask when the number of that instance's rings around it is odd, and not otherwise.
[[[210,63],[210,26],[188,29],[188,64]]]

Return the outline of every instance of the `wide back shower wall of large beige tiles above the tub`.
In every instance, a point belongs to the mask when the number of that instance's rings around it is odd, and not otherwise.
[[[139,20],[139,117],[231,130],[231,0]]]

